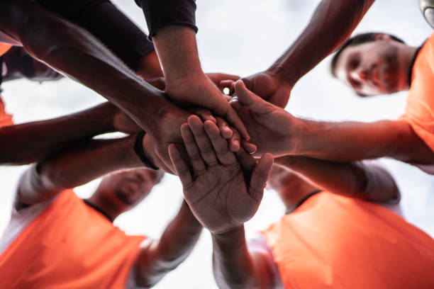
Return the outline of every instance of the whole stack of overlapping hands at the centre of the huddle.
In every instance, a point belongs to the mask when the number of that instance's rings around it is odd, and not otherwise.
[[[155,132],[145,135],[144,151],[153,164],[179,176],[191,211],[216,234],[240,227],[255,215],[273,154],[287,152],[291,140],[291,115],[267,101],[286,105],[290,89],[282,90],[266,73],[245,79],[265,100],[238,79],[208,74],[177,86],[150,81],[165,89],[172,105],[155,122]],[[234,96],[222,94],[224,87]],[[118,122],[128,127],[126,118]]]

